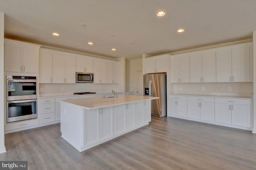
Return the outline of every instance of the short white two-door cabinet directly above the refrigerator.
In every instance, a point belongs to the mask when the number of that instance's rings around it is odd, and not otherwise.
[[[167,57],[161,55],[145,59],[145,73],[167,72]]]

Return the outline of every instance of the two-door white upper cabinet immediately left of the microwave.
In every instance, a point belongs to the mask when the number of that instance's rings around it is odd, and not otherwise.
[[[76,83],[76,58],[61,54],[52,55],[52,82]]]

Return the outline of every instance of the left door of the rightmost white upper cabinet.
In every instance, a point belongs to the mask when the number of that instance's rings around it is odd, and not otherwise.
[[[231,82],[231,49],[216,51],[216,82]]]

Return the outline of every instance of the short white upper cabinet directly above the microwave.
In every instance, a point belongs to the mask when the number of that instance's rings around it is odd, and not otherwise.
[[[76,72],[93,72],[93,59],[87,57],[76,57]]]

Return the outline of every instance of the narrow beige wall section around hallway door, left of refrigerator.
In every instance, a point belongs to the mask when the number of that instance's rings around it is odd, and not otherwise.
[[[134,92],[136,84],[136,72],[142,71],[142,58],[126,60],[126,92]],[[142,81],[143,82],[143,81]],[[143,86],[143,84],[142,84]]]

